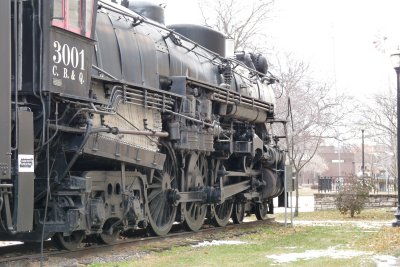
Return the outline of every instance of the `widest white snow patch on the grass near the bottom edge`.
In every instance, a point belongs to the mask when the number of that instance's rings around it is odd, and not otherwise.
[[[274,260],[275,263],[288,263],[298,260],[311,260],[320,257],[329,257],[332,259],[349,259],[358,256],[371,255],[372,253],[355,250],[337,250],[328,248],[325,250],[306,250],[302,253],[285,253],[268,255],[267,258]]]

